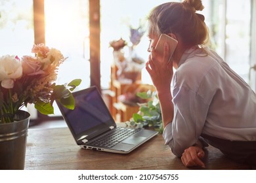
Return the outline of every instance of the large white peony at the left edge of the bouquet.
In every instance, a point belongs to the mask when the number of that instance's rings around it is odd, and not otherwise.
[[[4,88],[13,87],[14,80],[22,76],[22,64],[15,56],[0,57],[0,82]]]

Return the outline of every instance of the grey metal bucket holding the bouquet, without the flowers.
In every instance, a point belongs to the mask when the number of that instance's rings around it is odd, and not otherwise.
[[[24,169],[30,113],[18,110],[15,122],[0,124],[0,169]]]

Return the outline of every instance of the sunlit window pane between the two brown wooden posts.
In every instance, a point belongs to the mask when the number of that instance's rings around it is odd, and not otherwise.
[[[45,0],[45,44],[67,58],[58,70],[58,84],[81,78],[77,90],[90,86],[87,0]],[[54,104],[54,116],[58,115],[60,111]]]

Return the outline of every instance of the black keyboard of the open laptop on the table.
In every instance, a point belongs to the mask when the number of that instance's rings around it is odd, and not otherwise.
[[[106,135],[98,137],[97,139],[88,142],[87,144],[91,146],[112,148],[112,146],[118,144],[124,139],[127,139],[128,137],[131,137],[131,135],[137,133],[138,131],[140,131],[139,128],[131,129],[126,127],[117,127],[112,129],[109,133],[106,133]]]

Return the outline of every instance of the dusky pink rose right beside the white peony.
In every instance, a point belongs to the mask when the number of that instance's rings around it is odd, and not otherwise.
[[[45,72],[41,70],[41,61],[30,56],[23,56],[22,58],[22,69],[25,75],[41,75]]]

